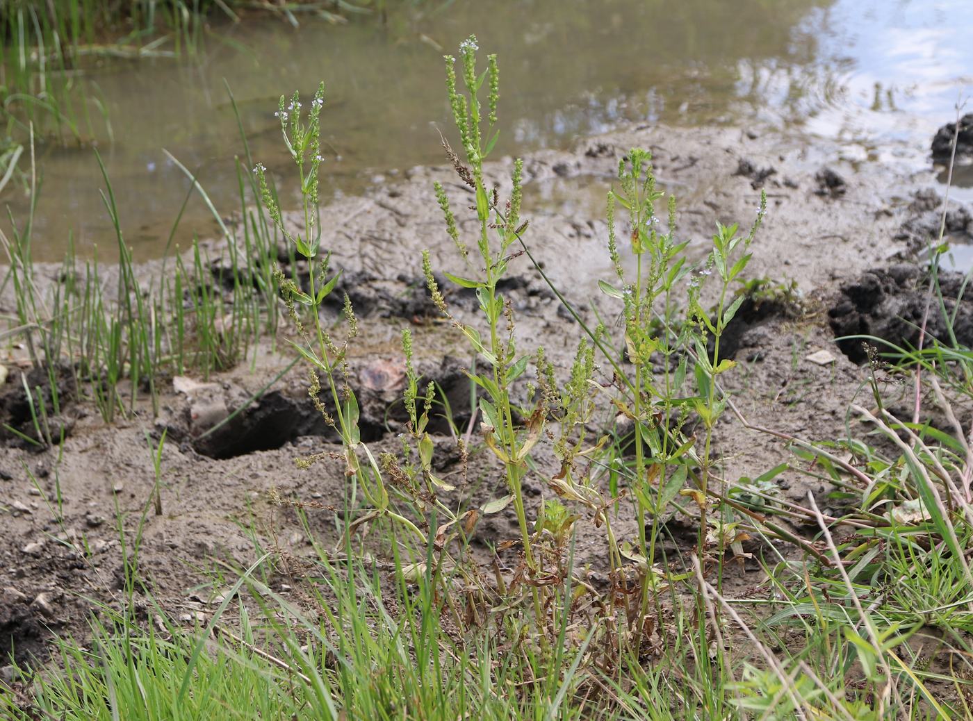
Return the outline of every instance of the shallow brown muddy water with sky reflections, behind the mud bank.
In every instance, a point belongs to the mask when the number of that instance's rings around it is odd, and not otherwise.
[[[163,149],[198,173],[221,213],[239,208],[234,156],[242,144],[226,86],[254,158],[279,175],[285,198],[294,196],[276,97],[309,94],[321,79],[325,199],[442,162],[435,126],[448,127],[449,118],[441,55],[470,32],[500,56],[497,156],[664,123],[773,126],[795,142],[839,141],[842,157],[829,161],[929,167],[932,133],[973,87],[967,0],[457,0],[387,27],[375,18],[343,26],[308,19],[297,29],[251,19],[212,28],[193,58],[106,62],[82,75],[108,111],[113,139],[97,120],[93,139],[136,256],[162,253],[189,187]],[[111,248],[92,152],[48,143],[38,156],[35,257],[59,258],[69,232],[81,254],[94,243]],[[26,212],[17,189],[0,203],[17,217]],[[174,239],[214,229],[194,198]]]

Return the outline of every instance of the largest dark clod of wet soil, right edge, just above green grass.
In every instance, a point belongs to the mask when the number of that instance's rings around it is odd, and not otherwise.
[[[973,344],[973,298],[959,297],[963,276],[940,271],[939,285],[943,304],[955,313],[953,332],[962,345]],[[928,278],[917,266],[899,264],[885,269],[869,270],[841,287],[838,299],[828,310],[831,330],[836,338],[872,336],[902,348],[919,345],[919,329],[926,317],[926,345],[931,339],[949,342],[946,322],[938,299],[929,305]],[[959,300],[957,300],[959,298]],[[873,342],[880,351],[882,342]],[[838,346],[855,363],[867,359],[860,338],[838,341]]]

